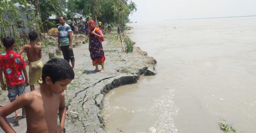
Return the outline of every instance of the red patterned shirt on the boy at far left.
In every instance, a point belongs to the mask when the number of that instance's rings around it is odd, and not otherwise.
[[[8,86],[18,86],[25,83],[22,69],[26,67],[22,56],[13,50],[0,55],[0,70],[3,71]]]

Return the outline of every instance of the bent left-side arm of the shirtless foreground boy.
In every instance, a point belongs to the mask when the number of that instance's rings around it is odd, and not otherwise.
[[[6,133],[15,133],[10,123],[7,121],[6,116],[12,114],[15,110],[27,106],[32,101],[32,95],[24,93],[16,98],[13,102],[0,109],[0,127]]]

